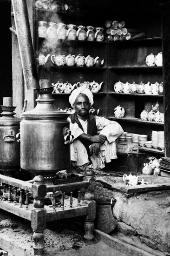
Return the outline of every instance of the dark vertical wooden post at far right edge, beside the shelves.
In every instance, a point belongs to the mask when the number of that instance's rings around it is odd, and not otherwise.
[[[162,7],[165,156],[170,157],[170,5]]]

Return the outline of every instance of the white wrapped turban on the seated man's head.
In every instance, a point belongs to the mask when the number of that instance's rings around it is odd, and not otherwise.
[[[80,86],[79,88],[73,90],[72,94],[69,97],[69,102],[70,102],[72,108],[73,108],[73,104],[74,104],[74,102],[75,102],[75,100],[76,100],[76,98],[79,94],[87,95],[91,105],[93,105],[93,103],[94,103],[93,94],[92,94],[91,90],[86,87],[86,85],[83,85],[83,86]]]

